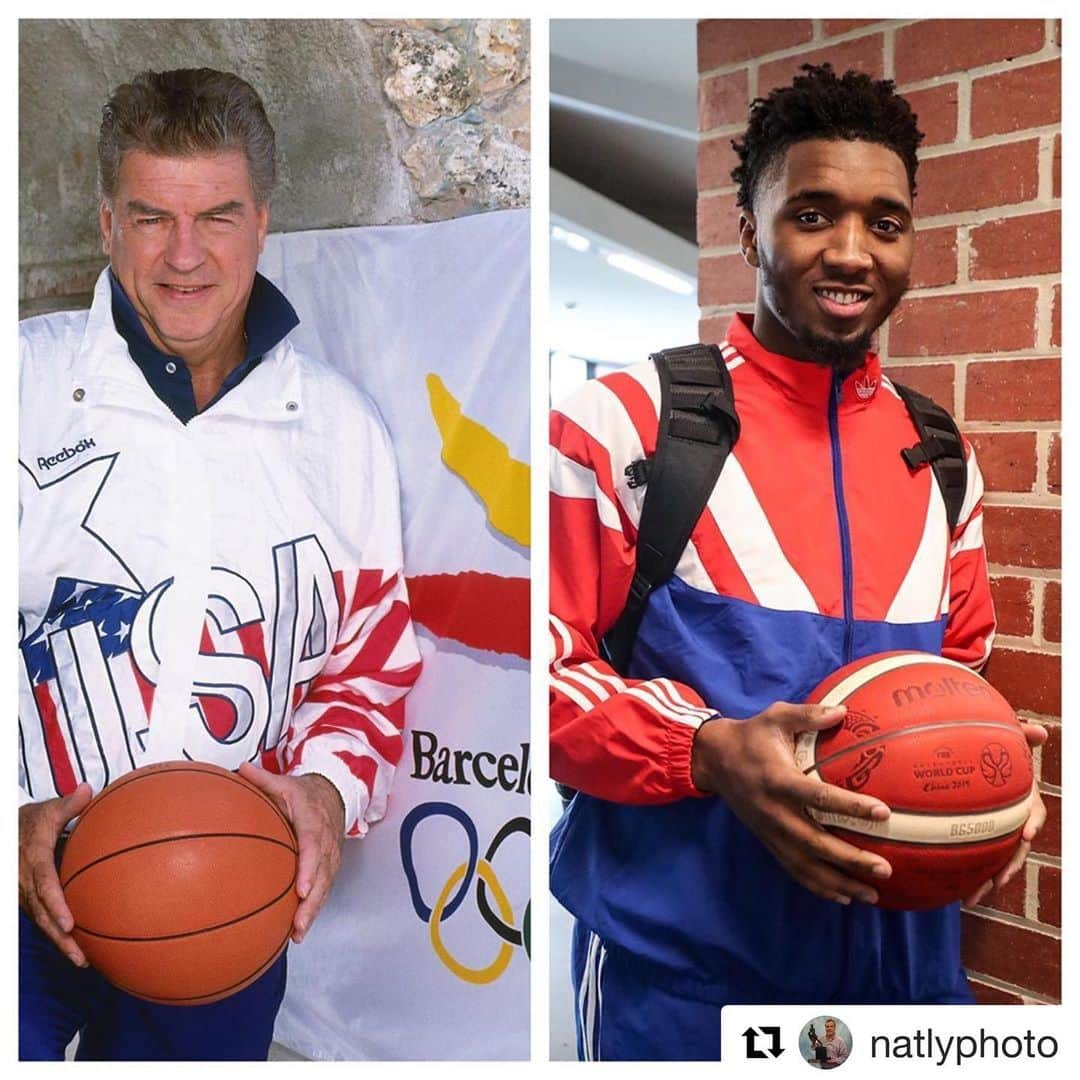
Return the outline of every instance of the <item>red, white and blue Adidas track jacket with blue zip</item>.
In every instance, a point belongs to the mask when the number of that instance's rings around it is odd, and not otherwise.
[[[847,378],[767,352],[735,316],[721,352],[741,435],[626,672],[599,643],[625,603],[656,447],[651,363],[595,380],[551,421],[551,772],[581,794],[552,891],[610,949],[701,1000],[967,1000],[959,908],[841,907],[787,877],[691,780],[717,714],[798,702],[842,664],[920,649],[980,667],[994,637],[970,445],[949,534],[918,441],[868,353]]]

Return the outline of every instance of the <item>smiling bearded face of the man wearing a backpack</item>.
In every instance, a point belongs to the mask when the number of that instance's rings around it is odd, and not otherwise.
[[[758,270],[758,341],[853,370],[907,288],[914,228],[904,162],[876,143],[796,143],[761,177],[740,244]]]

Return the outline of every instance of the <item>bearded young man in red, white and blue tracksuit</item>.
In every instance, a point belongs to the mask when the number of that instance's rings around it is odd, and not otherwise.
[[[624,470],[656,448],[656,369],[553,416],[551,771],[581,794],[551,882],[577,919],[583,1057],[715,1058],[727,1002],[971,1000],[959,904],[870,906],[888,863],[806,810],[888,808],[792,753],[843,710],[789,702],[842,664],[920,649],[977,669],[994,636],[971,448],[950,536],[869,350],[907,286],[920,138],[890,82],[827,66],[752,107],[733,178],[757,296],[720,347],[741,434],[625,672],[600,642],[634,573],[645,488]]]

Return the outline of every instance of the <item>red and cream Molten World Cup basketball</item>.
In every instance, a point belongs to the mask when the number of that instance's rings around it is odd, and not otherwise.
[[[882,652],[835,672],[807,699],[847,705],[805,731],[796,764],[826,783],[880,799],[887,821],[812,811],[849,843],[892,866],[878,906],[962,900],[1009,862],[1032,801],[1031,752],[1012,706],[970,667],[924,652]]]

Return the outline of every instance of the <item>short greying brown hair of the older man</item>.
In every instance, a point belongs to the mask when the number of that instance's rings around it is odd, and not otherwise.
[[[260,206],[276,178],[273,127],[259,95],[239,76],[212,68],[144,71],[112,92],[97,138],[97,183],[106,199],[116,194],[129,150],[170,158],[243,150]]]

